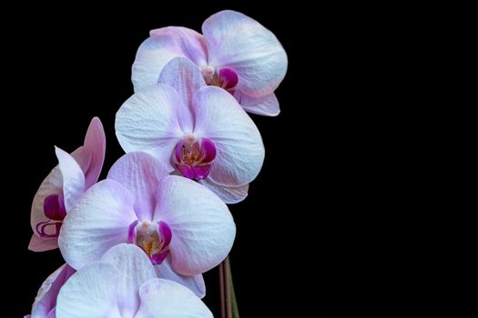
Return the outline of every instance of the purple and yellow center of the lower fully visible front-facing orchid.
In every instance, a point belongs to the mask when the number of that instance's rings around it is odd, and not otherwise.
[[[158,265],[168,257],[172,233],[166,222],[135,221],[129,225],[127,235],[129,243],[145,251],[151,263]]]

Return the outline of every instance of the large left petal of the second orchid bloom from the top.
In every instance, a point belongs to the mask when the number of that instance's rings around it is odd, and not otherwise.
[[[131,96],[117,112],[115,123],[117,140],[125,152],[151,154],[172,172],[171,155],[184,134],[177,114],[181,103],[172,87],[161,84]]]

